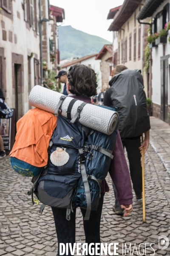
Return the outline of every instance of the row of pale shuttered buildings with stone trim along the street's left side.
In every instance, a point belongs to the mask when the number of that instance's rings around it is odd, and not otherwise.
[[[30,108],[28,95],[32,87],[40,84],[40,0],[1,0],[0,1],[0,88],[6,102],[16,109],[17,119]],[[42,19],[49,18],[49,1],[42,1]],[[55,42],[57,55],[57,18],[42,22],[43,59],[48,68],[53,68],[50,59],[50,40]],[[51,27],[52,26],[52,27]],[[57,56],[56,56],[57,58]]]

